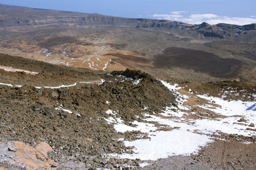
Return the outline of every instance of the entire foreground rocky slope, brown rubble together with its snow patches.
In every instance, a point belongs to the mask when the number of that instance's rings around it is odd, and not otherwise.
[[[0,63],[2,169],[255,167],[255,83]]]

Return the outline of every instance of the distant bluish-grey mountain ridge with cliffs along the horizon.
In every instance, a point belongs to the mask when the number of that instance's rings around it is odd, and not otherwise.
[[[48,9],[31,9],[11,5],[0,5],[0,27],[33,26],[49,24],[102,25],[137,27],[146,29],[167,29],[181,36],[195,39],[230,39],[242,42],[256,42],[256,24],[231,25],[184,24],[169,20],[143,18],[121,18],[100,14],[87,14]]]

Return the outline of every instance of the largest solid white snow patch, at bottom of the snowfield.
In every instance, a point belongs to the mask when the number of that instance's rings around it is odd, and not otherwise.
[[[209,137],[190,131],[156,131],[153,134],[150,140],[124,141],[125,146],[135,146],[134,159],[158,160],[168,156],[188,155],[200,150],[200,146],[211,142]]]

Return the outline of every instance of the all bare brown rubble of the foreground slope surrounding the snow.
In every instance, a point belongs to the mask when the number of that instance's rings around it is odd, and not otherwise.
[[[101,158],[100,154],[112,152],[121,154],[127,151],[123,142],[117,139],[121,137],[137,139],[138,135],[143,136],[138,132],[116,133],[113,125],[107,124],[104,120],[109,117],[105,111],[115,110],[117,117],[130,125],[130,122],[135,120],[142,121],[141,112],[144,107],[148,107],[149,113],[157,113],[170,102],[175,105],[173,93],[158,80],[141,71],[127,69],[106,74],[7,55],[1,56],[0,59],[3,61],[1,65],[38,71],[39,74],[0,71],[0,82],[24,85],[21,88],[0,85],[0,142],[20,141],[27,144],[30,149],[37,148],[41,142],[46,146],[49,144],[53,152],[48,154],[49,158],[45,155],[43,159],[54,161],[58,163],[58,167],[64,169],[111,168],[124,163],[137,167],[140,163],[138,160]],[[126,77],[142,80],[139,84],[133,84],[133,80],[127,80]],[[77,84],[58,89],[33,87],[69,85],[83,80],[100,80],[100,78],[105,80],[103,84]],[[240,97],[245,93],[249,96],[249,93],[255,93],[256,89],[255,84],[244,82],[189,83],[180,80],[179,83],[185,87],[185,90],[191,88],[194,93],[209,92],[211,95],[218,93],[218,87],[223,90],[231,87],[236,92],[242,92]],[[72,113],[55,109],[61,105],[63,109],[71,110]],[[81,116],[77,116],[76,113]],[[0,144],[0,151],[1,146]],[[0,156],[0,160],[1,158]],[[27,159],[29,156],[22,155],[21,158]],[[153,164],[148,169],[253,169],[255,161],[255,144],[216,141],[203,148],[197,156],[173,156],[152,161]],[[54,166],[57,165],[54,163]],[[11,168],[12,165],[3,162],[0,163],[0,167]]]

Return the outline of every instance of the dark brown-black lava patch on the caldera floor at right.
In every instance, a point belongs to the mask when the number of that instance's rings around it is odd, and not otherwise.
[[[163,54],[154,57],[157,68],[183,67],[221,78],[237,77],[242,65],[237,59],[219,58],[210,52],[188,48],[166,48]]]

